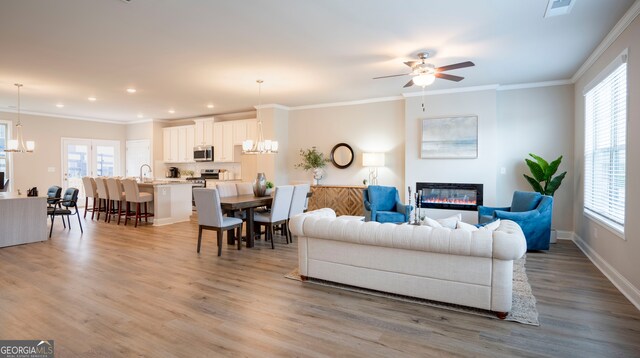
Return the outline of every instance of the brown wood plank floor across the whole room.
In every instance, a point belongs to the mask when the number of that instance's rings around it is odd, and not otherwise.
[[[296,244],[237,251],[197,224],[60,222],[0,249],[0,339],[56,357],[639,356],[640,312],[568,241],[529,253],[540,327],[284,278]]]

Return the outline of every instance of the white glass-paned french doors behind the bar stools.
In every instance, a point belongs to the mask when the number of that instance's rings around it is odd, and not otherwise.
[[[78,205],[84,205],[84,176],[119,176],[120,141],[62,139],[62,186],[78,188]]]

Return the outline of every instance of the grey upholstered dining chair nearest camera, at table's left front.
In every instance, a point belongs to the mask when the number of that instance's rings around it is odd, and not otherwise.
[[[222,233],[233,229],[238,229],[238,250],[242,249],[242,219],[222,216],[220,207],[220,193],[218,189],[195,188],[193,197],[196,200],[196,211],[198,212],[198,248],[202,243],[202,230],[213,230],[217,233],[218,256],[222,255]]]

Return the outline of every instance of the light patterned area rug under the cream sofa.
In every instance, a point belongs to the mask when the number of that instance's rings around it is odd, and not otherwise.
[[[529,278],[527,277],[527,272],[524,267],[525,261],[526,261],[526,256],[513,262],[513,302],[511,305],[511,312],[509,312],[509,315],[507,315],[507,318],[505,318],[504,320],[518,322],[522,324],[528,324],[532,326],[539,326],[540,323],[538,322],[538,310],[536,309],[536,298],[533,296],[533,293],[531,292],[531,285],[529,285]],[[302,281],[298,268],[295,268],[293,271],[289,272],[284,277],[292,280]],[[335,287],[343,290],[364,293],[367,295],[386,297],[386,298],[399,300],[399,301],[413,302],[413,303],[418,303],[426,306],[432,306],[432,307],[443,308],[443,309],[448,309],[448,310],[457,311],[457,312],[464,312],[464,313],[474,314],[478,316],[488,317],[492,319],[498,319],[495,313],[491,311],[477,309],[477,308],[425,300],[425,299],[416,298],[416,297],[396,295],[393,293],[369,290],[366,288],[344,285],[341,283],[318,280],[314,278],[310,278],[309,280],[302,281],[302,282]]]

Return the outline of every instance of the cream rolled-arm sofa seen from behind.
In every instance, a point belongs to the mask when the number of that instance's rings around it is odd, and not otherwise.
[[[527,249],[509,220],[491,231],[380,224],[336,218],[325,208],[291,219],[307,277],[428,300],[511,310],[513,260]]]

